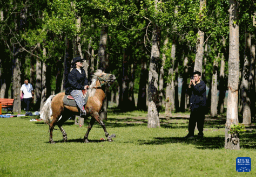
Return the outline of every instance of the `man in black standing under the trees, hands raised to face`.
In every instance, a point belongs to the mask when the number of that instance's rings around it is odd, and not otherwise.
[[[206,84],[204,81],[201,81],[201,73],[196,71],[193,73],[194,77],[190,80],[190,85],[188,88],[191,89],[191,98],[190,98],[190,121],[188,123],[188,134],[185,136],[185,139],[194,138],[194,129],[196,128],[199,131],[198,138],[204,138],[204,121],[205,121],[205,108],[206,108]]]

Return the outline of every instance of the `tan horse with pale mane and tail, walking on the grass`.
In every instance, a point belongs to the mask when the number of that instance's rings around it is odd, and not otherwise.
[[[105,124],[102,122],[102,120],[99,117],[99,112],[102,109],[103,101],[105,98],[105,87],[109,86],[109,83],[114,82],[115,80],[116,80],[116,77],[114,75],[106,74],[102,72],[102,70],[97,70],[93,74],[92,83],[89,87],[89,90],[87,91],[87,94],[89,94],[89,98],[88,98],[87,104],[85,105],[86,115],[91,116],[91,121],[88,126],[87,132],[85,133],[85,136],[84,136],[84,143],[89,143],[88,135],[95,121],[97,121],[104,129],[107,141],[113,141],[111,139],[113,135],[109,136],[109,133],[107,133]],[[55,96],[51,95],[46,100],[44,107],[41,111],[41,114],[43,115],[45,122],[49,124],[49,131],[50,131],[49,143],[55,143],[55,141],[53,141],[52,139],[52,131],[56,124],[58,125],[60,131],[63,134],[63,140],[67,141],[68,138],[66,136],[66,132],[62,128],[62,125],[73,114],[76,114],[76,115],[79,114],[79,110],[77,107],[71,107],[63,104],[64,96],[65,96],[65,93],[58,93]],[[51,110],[52,110],[52,116],[53,116],[52,122],[50,122]],[[60,116],[62,116],[62,118],[59,120]]]

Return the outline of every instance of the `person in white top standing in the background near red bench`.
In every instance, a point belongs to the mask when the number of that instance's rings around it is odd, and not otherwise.
[[[29,111],[30,109],[30,102],[33,100],[34,98],[34,92],[33,92],[33,87],[32,85],[29,83],[29,80],[26,79],[24,81],[24,84],[21,87],[21,95],[23,92],[23,101],[26,104],[26,112]]]

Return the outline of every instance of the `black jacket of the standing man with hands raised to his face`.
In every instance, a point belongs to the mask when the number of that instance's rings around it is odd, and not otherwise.
[[[196,86],[191,85],[190,109],[193,111],[199,107],[206,107],[206,84],[204,81],[200,81]]]

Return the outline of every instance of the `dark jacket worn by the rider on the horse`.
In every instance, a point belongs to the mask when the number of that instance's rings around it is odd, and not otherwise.
[[[66,95],[70,95],[72,90],[83,90],[84,86],[88,85],[88,80],[85,74],[85,70],[81,68],[81,73],[74,68],[68,75],[68,82],[66,83]]]

